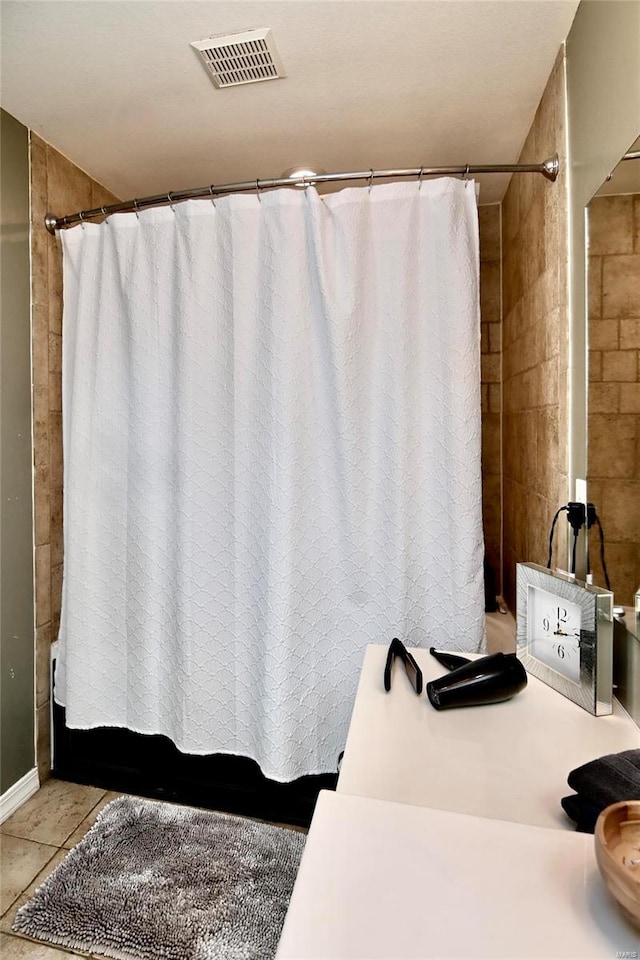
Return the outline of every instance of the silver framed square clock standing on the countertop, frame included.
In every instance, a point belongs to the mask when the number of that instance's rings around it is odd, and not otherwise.
[[[516,565],[516,644],[528,673],[594,716],[613,710],[613,593]]]

